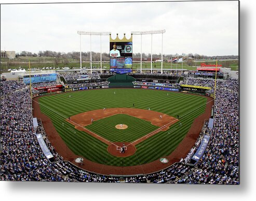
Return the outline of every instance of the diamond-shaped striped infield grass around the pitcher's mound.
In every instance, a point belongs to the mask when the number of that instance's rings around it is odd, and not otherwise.
[[[127,125],[128,128],[124,130],[116,129],[115,126],[120,123]],[[126,114],[117,114],[94,121],[86,128],[111,142],[133,142],[159,127],[143,119]]]

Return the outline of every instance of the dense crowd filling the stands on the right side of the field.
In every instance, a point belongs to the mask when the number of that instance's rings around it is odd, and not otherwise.
[[[190,80],[188,84],[204,86],[206,81],[200,81]],[[176,183],[239,183],[238,80],[218,81],[217,85],[208,147],[196,168]]]

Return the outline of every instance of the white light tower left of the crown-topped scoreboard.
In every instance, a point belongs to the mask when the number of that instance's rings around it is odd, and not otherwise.
[[[90,35],[90,63],[91,63],[91,35],[100,36],[100,73],[102,73],[101,36],[102,35],[109,36],[111,32],[85,32],[85,31],[78,30],[77,34],[80,35],[80,70],[82,70],[81,35]],[[92,66],[91,66],[91,73],[92,73]]]

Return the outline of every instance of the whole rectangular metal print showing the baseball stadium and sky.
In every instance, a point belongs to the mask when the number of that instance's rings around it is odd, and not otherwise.
[[[240,184],[240,1],[59,6],[1,3],[1,181]]]

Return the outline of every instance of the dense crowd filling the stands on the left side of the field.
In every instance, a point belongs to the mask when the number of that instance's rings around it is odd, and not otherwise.
[[[1,99],[0,180],[68,181],[38,145],[29,88],[16,81],[1,82]]]

